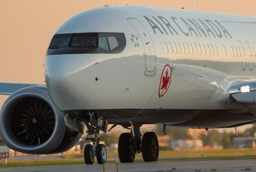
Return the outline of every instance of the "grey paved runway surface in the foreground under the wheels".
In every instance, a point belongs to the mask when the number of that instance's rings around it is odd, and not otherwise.
[[[256,171],[255,159],[242,160],[201,160],[201,161],[177,161],[177,162],[144,162],[120,164],[119,172],[122,171]],[[40,166],[40,167],[19,167],[0,168],[0,171],[102,171],[102,165],[67,165],[67,166]],[[115,164],[106,164],[106,172],[116,171]]]

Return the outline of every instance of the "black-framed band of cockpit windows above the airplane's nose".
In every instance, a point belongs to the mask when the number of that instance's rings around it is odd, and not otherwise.
[[[47,55],[117,54],[126,46],[124,33],[68,33],[52,38]]]

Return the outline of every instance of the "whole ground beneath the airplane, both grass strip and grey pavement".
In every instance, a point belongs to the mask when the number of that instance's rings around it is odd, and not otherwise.
[[[201,157],[203,153],[203,157]],[[106,171],[116,171],[117,153],[108,154]],[[255,149],[160,151],[158,162],[143,162],[141,154],[119,171],[256,171]],[[7,168],[6,168],[7,167]],[[102,165],[85,165],[83,154],[26,156],[2,159],[0,171],[102,171]]]

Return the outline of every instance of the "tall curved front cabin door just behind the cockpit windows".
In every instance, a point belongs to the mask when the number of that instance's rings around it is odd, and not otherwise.
[[[144,25],[135,18],[128,18],[127,21],[138,32],[145,56],[145,76],[156,75],[156,53],[153,41]]]

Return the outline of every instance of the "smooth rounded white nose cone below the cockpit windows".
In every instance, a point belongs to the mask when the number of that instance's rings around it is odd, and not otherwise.
[[[46,56],[46,84],[60,110],[83,109],[89,87],[89,60],[81,55]]]

